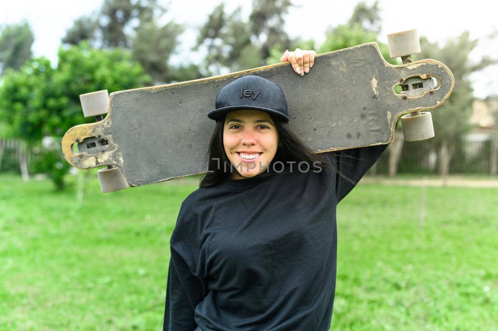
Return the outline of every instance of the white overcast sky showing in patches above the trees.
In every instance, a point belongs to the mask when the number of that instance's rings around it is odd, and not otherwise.
[[[57,64],[57,48],[66,30],[81,15],[98,9],[102,0],[1,0],[0,24],[28,20],[35,34],[33,53],[48,57],[52,65]],[[178,49],[174,61],[198,62],[199,55],[192,52],[198,26],[206,21],[208,14],[220,3],[201,0],[163,0],[169,11],[165,19],[174,19],[187,27],[182,36],[184,44]],[[251,0],[230,0],[226,9],[231,11],[242,6],[243,14],[249,16]],[[355,1],[306,1],[293,0],[298,7],[292,8],[286,18],[286,31],[292,37],[301,35],[323,41],[327,26],[345,23],[353,12]],[[307,2],[307,3],[306,3]],[[169,3],[169,5],[168,5]],[[373,3],[368,0],[367,3]],[[480,45],[472,54],[474,61],[483,55],[498,57],[498,43],[485,43],[485,36],[497,30],[496,5],[491,1],[473,0],[459,3],[454,0],[410,2],[380,0],[382,31],[380,41],[386,42],[387,33],[417,28],[420,35],[429,41],[444,42],[468,30],[472,38],[479,38]],[[437,59],[436,59],[437,60]],[[185,61],[185,60],[184,60]],[[451,69],[451,68],[450,68]],[[486,97],[498,94],[498,66],[471,77],[475,95]]]

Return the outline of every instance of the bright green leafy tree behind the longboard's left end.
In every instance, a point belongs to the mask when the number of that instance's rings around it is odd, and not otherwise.
[[[26,63],[20,71],[6,72],[0,86],[0,123],[11,124],[0,126],[0,136],[23,139],[30,147],[37,146],[45,136],[61,138],[68,128],[94,121],[83,117],[79,94],[101,89],[112,92],[150,82],[140,64],[121,49],[99,50],[82,42],[59,48],[58,57],[56,69],[41,57]],[[47,157],[53,161],[55,156],[47,153]],[[57,188],[62,189],[67,169],[46,170]]]

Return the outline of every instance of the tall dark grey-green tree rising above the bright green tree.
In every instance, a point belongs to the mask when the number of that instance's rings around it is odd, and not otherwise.
[[[180,73],[188,79],[200,78],[195,67],[175,68],[169,64],[183,28],[174,21],[159,24],[165,12],[157,0],[105,0],[99,11],[78,18],[62,42],[77,45],[88,40],[101,49],[129,50],[132,59],[152,77],[152,83],[186,80],[179,77]]]

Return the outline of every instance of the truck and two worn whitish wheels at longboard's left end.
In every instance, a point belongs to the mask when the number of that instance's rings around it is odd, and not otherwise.
[[[80,94],[81,107],[85,117],[95,116],[97,122],[104,120],[103,114],[109,111],[109,93],[107,89]],[[109,147],[109,142],[102,136],[88,137],[83,141],[76,139],[79,153],[97,155],[104,152]],[[100,189],[103,193],[118,191],[128,187],[128,182],[121,169],[117,166],[107,165],[107,167],[97,170]]]

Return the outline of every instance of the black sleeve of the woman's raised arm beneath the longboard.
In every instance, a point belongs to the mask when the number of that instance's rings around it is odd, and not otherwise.
[[[337,169],[335,172],[337,203],[351,192],[358,181],[386,150],[387,146],[388,144],[326,152],[327,157]]]

